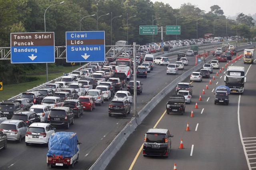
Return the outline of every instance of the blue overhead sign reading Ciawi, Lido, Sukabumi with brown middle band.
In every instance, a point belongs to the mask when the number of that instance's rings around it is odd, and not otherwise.
[[[105,31],[66,32],[66,61],[105,61]]]

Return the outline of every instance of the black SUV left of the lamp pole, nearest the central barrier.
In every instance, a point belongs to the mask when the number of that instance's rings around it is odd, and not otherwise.
[[[108,106],[108,116],[112,116],[112,114],[116,115],[124,115],[127,117],[127,114],[130,114],[131,105],[127,99],[123,98],[114,98],[109,106]]]

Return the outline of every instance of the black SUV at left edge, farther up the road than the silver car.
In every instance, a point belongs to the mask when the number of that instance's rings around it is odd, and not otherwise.
[[[7,116],[7,119],[10,119],[14,113],[22,110],[22,106],[16,100],[4,100],[2,103],[0,103],[0,111]]]

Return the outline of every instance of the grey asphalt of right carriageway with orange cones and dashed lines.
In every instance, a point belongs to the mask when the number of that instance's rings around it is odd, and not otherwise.
[[[225,85],[223,78],[225,67],[222,73],[214,70],[211,74],[212,84],[209,84],[207,78],[201,83],[192,82],[194,86],[192,103],[186,105],[185,114],[167,115],[165,107],[168,97],[164,98],[128,137],[106,170],[173,169],[174,163],[177,169],[183,170],[254,169],[256,166],[256,73],[254,64],[244,64],[242,59],[231,63],[245,66],[246,70],[250,68],[246,74],[247,82],[242,95],[231,94],[228,106],[214,105],[213,89],[216,86]],[[220,67],[222,68],[225,64],[220,63]],[[216,76],[217,71],[219,76]],[[215,80],[212,80],[213,75]],[[184,82],[189,81],[187,79]],[[206,84],[208,84],[208,90],[206,90]],[[203,89],[205,94],[202,94]],[[200,94],[202,101],[199,101]],[[198,109],[195,109],[196,102],[198,102]],[[194,117],[190,117],[192,109]],[[190,131],[186,131],[187,123]],[[142,156],[144,134],[153,127],[169,129],[170,134],[174,135],[168,158]],[[184,149],[178,149],[181,139]]]

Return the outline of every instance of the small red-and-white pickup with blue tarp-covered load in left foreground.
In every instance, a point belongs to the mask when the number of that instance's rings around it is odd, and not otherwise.
[[[78,137],[74,132],[52,133],[48,142],[47,166],[68,166],[74,168],[74,164],[79,160]]]

